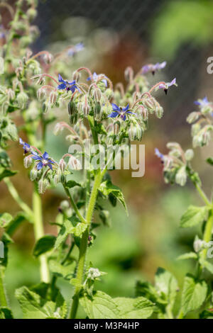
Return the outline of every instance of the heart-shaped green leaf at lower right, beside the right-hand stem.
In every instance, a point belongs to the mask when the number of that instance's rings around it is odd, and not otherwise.
[[[207,283],[195,281],[193,276],[187,275],[184,279],[181,308],[183,315],[187,312],[197,310],[207,297]]]

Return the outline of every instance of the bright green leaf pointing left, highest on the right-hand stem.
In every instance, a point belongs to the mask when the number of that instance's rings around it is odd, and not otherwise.
[[[180,219],[180,227],[194,227],[194,225],[198,225],[207,218],[208,211],[209,207],[207,206],[196,207],[190,205]]]

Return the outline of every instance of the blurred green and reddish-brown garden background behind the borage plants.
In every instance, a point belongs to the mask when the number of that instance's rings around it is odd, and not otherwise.
[[[163,184],[162,166],[154,155],[154,147],[166,152],[165,143],[178,141],[191,147],[190,126],[185,123],[194,110],[193,101],[207,95],[213,99],[213,74],[207,74],[207,58],[213,56],[212,1],[40,1],[35,25],[40,38],[33,45],[34,52],[44,48],[58,52],[67,45],[83,42],[85,49],[67,68],[69,74],[82,65],[110,77],[114,84],[124,81],[124,69],[131,65],[135,71],[143,64],[166,60],[165,71],[150,77],[152,81],[170,81],[177,78],[178,88],[170,89],[168,96],[158,94],[165,108],[161,120],[150,119],[149,130],[143,137],[146,145],[146,172],[143,178],[132,178],[131,171],[111,173],[114,184],[124,191],[129,206],[126,217],[121,205],[111,210],[111,227],[99,227],[89,260],[94,267],[107,272],[97,288],[111,296],[133,296],[138,279],[153,281],[158,266],[168,269],[178,278],[180,286],[186,271],[193,269],[189,261],[177,261],[178,255],[192,250],[199,228],[181,230],[180,216],[187,205],[200,204],[190,186],[180,188]],[[14,1],[11,1],[13,4]],[[4,11],[4,9],[2,9]],[[6,20],[6,14],[5,14]],[[125,84],[125,81],[124,81]],[[60,118],[67,120],[66,114]],[[64,137],[48,132],[46,147],[51,156],[60,158],[67,152]],[[210,194],[210,169],[200,161],[212,147],[196,149],[195,169],[200,171],[203,185]],[[31,204],[32,184],[23,169],[23,156],[18,144],[9,151],[14,169],[20,170],[13,183],[23,199]],[[0,212],[18,212],[18,206],[6,186],[0,184]],[[60,188],[43,195],[45,232],[55,235],[50,222],[55,220],[58,205],[65,197]],[[15,315],[21,310],[13,298],[13,291],[23,285],[38,283],[38,261],[33,259],[33,227],[22,225],[13,237],[6,270],[6,288]],[[71,286],[59,279],[62,293],[70,299]]]

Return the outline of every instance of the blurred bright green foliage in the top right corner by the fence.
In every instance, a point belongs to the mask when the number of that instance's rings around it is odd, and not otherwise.
[[[212,14],[212,1],[168,1],[160,16],[153,21],[153,54],[171,60],[185,43],[192,43],[195,47],[211,43]]]

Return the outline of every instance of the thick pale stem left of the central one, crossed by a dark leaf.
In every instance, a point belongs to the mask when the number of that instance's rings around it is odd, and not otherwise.
[[[43,218],[42,218],[42,205],[40,195],[36,188],[33,191],[33,213],[34,213],[34,234],[35,242],[43,237]],[[50,273],[48,270],[48,260],[45,254],[39,256],[40,260],[40,279],[45,283],[50,282]]]

